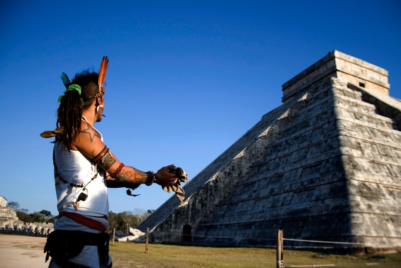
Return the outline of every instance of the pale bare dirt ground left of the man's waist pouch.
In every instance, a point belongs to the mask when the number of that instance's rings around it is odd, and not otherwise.
[[[0,234],[0,268],[47,268],[46,238]]]

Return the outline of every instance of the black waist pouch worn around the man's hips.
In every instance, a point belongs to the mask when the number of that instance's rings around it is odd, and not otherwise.
[[[46,253],[46,261],[49,256],[54,262],[66,261],[78,256],[84,246],[97,246],[100,263],[107,265],[109,262],[109,241],[108,233],[87,233],[81,231],[62,231],[56,230],[47,237],[44,253]]]

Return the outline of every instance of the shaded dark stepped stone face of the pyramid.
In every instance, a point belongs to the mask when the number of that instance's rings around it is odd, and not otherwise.
[[[287,238],[353,242],[331,89],[321,81],[276,120],[264,157],[199,224],[195,243],[272,246],[278,229]]]

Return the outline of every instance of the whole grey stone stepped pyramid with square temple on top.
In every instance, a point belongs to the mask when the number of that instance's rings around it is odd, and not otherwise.
[[[401,247],[401,100],[389,89],[385,69],[329,52],[282,85],[282,104],[182,203],[170,198],[136,228],[154,242],[273,246],[283,230],[285,245]]]

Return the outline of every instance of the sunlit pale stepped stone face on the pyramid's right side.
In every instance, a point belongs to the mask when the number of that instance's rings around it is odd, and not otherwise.
[[[355,85],[336,89],[353,233],[372,246],[401,247],[401,102],[389,106]]]

